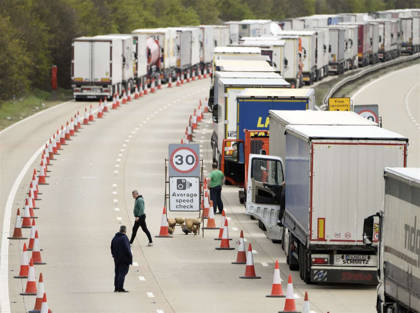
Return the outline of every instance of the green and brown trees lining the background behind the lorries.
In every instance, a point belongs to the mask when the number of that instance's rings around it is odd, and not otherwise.
[[[0,90],[70,87],[71,39],[138,28],[420,8],[420,0],[2,0]]]

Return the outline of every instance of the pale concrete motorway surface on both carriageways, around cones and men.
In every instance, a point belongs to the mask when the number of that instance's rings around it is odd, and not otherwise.
[[[407,81],[409,75],[415,76],[414,72],[402,75],[398,80]],[[415,77],[418,82],[418,68]],[[390,79],[394,83],[396,80]],[[390,113],[388,118],[385,105],[380,106],[383,127],[410,138],[410,156],[415,155],[416,140],[412,137],[416,134],[419,155],[418,126],[415,128],[412,120],[419,121],[420,118],[411,119],[408,115],[418,113],[419,85],[415,86],[415,83],[401,83],[407,90],[399,86],[400,89],[394,89],[395,100],[381,101],[392,102],[389,107],[394,105],[396,110],[396,102],[402,98],[398,108],[405,111],[399,110],[398,114],[405,118],[401,127],[407,127],[410,133],[392,128],[391,125],[400,124],[389,122],[396,120],[397,113]],[[268,240],[257,222],[244,214],[244,206],[239,204],[234,186],[224,187],[222,193],[230,218],[231,246],[236,248],[240,230],[244,230],[247,243],[251,243],[257,252],[254,254],[255,270],[262,279],[238,278],[243,275],[244,266],[231,264],[236,259],[237,250],[214,250],[220,244],[213,240],[218,231],[205,230],[203,238],[201,233],[199,236],[184,235],[178,227],[173,238],[154,238],[155,246],[146,247],[147,238],[140,230],[132,248],[137,265],[130,266],[125,282],[130,293],[113,293],[113,261],[109,245],[121,224],[127,225],[127,233],[131,235],[131,191],[137,189],[143,195],[148,228],[152,236],[157,235],[162,216],[164,159],[168,157],[168,143],[180,142],[189,115],[198,107],[200,99],[204,104],[209,85],[210,81],[205,79],[173,89],[163,87],[156,94],[122,105],[117,111],[111,110],[104,119],[96,119],[92,125],[84,126],[52,162],[50,177],[47,178],[50,185],[39,186],[42,201],[37,201],[40,209],[35,211],[39,217],[36,223],[43,249],[42,259],[47,263],[35,266],[35,275],[38,278],[39,272],[43,273],[49,307],[56,312],[282,310],[283,298],[265,297],[271,290],[274,263],[278,260],[283,292],[286,292],[286,278],[292,274],[298,310],[302,309],[304,292],[308,291],[311,310],[316,312],[375,311],[375,286],[306,285],[299,279],[297,271],[289,271],[280,245]],[[376,88],[380,91],[375,93],[383,94],[381,87]],[[391,92],[391,87],[385,89]],[[372,93],[369,90],[362,90],[355,97],[354,104],[368,102]],[[406,94],[410,113],[405,109]],[[372,101],[378,103],[379,99],[375,97]],[[33,309],[35,302],[33,296],[19,295],[25,288],[26,279],[13,278],[19,270],[21,250],[27,240],[3,240],[3,236],[9,235],[5,233],[3,220],[6,217],[6,224],[9,222],[13,233],[16,209],[23,206],[33,169],[40,161],[40,154],[36,151],[67,118],[77,110],[82,112],[89,104],[69,102],[0,133],[0,213],[2,243],[6,243],[2,246],[0,266],[2,271],[8,272],[8,279],[2,275],[0,282],[2,312],[8,305],[12,312],[27,312]],[[210,172],[212,160],[211,133],[211,116],[206,114],[194,137],[194,141],[200,144],[205,174]],[[32,156],[34,160],[30,160]],[[410,156],[409,160],[414,159]],[[9,220],[7,213],[10,214]],[[169,217],[197,215],[168,212]],[[216,225],[219,223],[220,216],[216,216]],[[29,237],[29,229],[24,229],[23,233]],[[4,293],[7,290],[8,298]],[[5,299],[8,303],[4,303]]]

